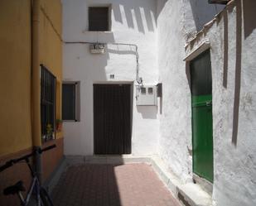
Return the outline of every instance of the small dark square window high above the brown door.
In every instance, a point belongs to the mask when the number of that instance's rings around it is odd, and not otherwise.
[[[109,7],[89,7],[89,31],[109,31]]]

